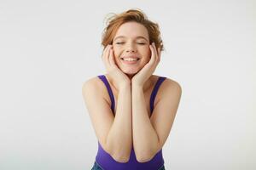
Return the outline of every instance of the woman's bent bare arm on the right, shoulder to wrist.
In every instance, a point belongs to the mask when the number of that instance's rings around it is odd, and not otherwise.
[[[166,79],[158,94],[161,97],[149,118],[143,88],[132,86],[133,144],[137,160],[141,162],[151,160],[165,144],[176,116],[181,87]]]

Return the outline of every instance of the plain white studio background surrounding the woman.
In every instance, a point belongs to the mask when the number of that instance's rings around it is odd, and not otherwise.
[[[105,74],[108,13],[141,8],[166,48],[156,75],[183,88],[167,170],[256,169],[255,1],[0,1],[0,169],[90,169],[81,87]]]

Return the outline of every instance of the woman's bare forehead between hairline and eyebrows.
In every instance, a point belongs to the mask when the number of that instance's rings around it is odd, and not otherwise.
[[[116,32],[114,39],[118,37],[128,38],[142,38],[145,37],[148,40],[148,30],[142,24],[137,22],[126,22],[121,25]]]

